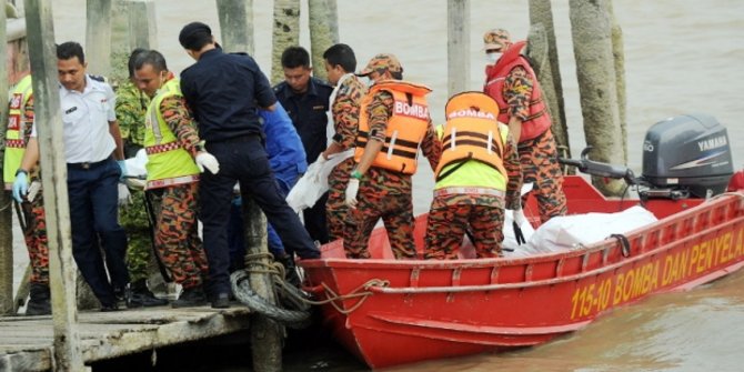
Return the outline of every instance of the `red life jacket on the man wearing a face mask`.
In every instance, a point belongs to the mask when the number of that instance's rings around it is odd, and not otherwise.
[[[519,142],[532,140],[544,133],[551,127],[551,118],[547,114],[545,101],[542,97],[542,89],[535,76],[535,72],[530,67],[527,60],[520,54],[522,48],[526,42],[520,41],[506,49],[503,56],[499,59],[495,66],[485,67],[485,84],[483,92],[496,100],[501,110],[499,111],[499,121],[509,123],[509,103],[504,100],[503,88],[504,80],[509,72],[517,66],[521,66],[527,71],[533,79],[532,95],[530,97],[530,115],[527,120],[522,122],[522,132]]]

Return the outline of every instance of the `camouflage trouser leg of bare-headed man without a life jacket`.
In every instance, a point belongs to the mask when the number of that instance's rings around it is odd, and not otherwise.
[[[325,202],[325,220],[330,241],[343,238],[343,227],[349,207],[345,193],[349,175],[354,168],[354,159],[349,158],[333,168],[328,178],[328,201]]]

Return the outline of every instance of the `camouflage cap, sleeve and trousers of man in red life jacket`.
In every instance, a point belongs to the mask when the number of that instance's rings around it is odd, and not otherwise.
[[[502,29],[485,33],[483,41],[489,46],[500,46],[502,51],[511,44],[509,32]],[[509,117],[526,121],[530,117],[530,97],[535,83],[522,67],[512,69],[503,86],[503,97],[509,103]],[[545,112],[547,114],[547,112]],[[537,138],[520,142],[520,162],[524,183],[534,182],[535,198],[541,222],[567,212],[563,192],[563,173],[557,162],[557,148],[551,130]],[[526,197],[525,197],[526,199]],[[524,200],[523,200],[524,204]]]

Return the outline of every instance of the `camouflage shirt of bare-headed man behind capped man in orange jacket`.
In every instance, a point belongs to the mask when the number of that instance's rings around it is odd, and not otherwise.
[[[343,150],[353,148],[356,142],[360,103],[365,93],[364,84],[359,81],[359,78],[352,76],[339,87],[335,101],[332,102],[331,112],[335,130],[333,141],[339,143]]]

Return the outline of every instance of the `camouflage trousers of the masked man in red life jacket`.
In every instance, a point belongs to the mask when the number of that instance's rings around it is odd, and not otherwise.
[[[540,221],[545,222],[552,217],[566,214],[563,173],[557,162],[555,139],[551,130],[535,139],[520,142],[519,153],[523,182],[534,182],[533,193],[537,200]],[[523,197],[522,205],[526,197]]]

